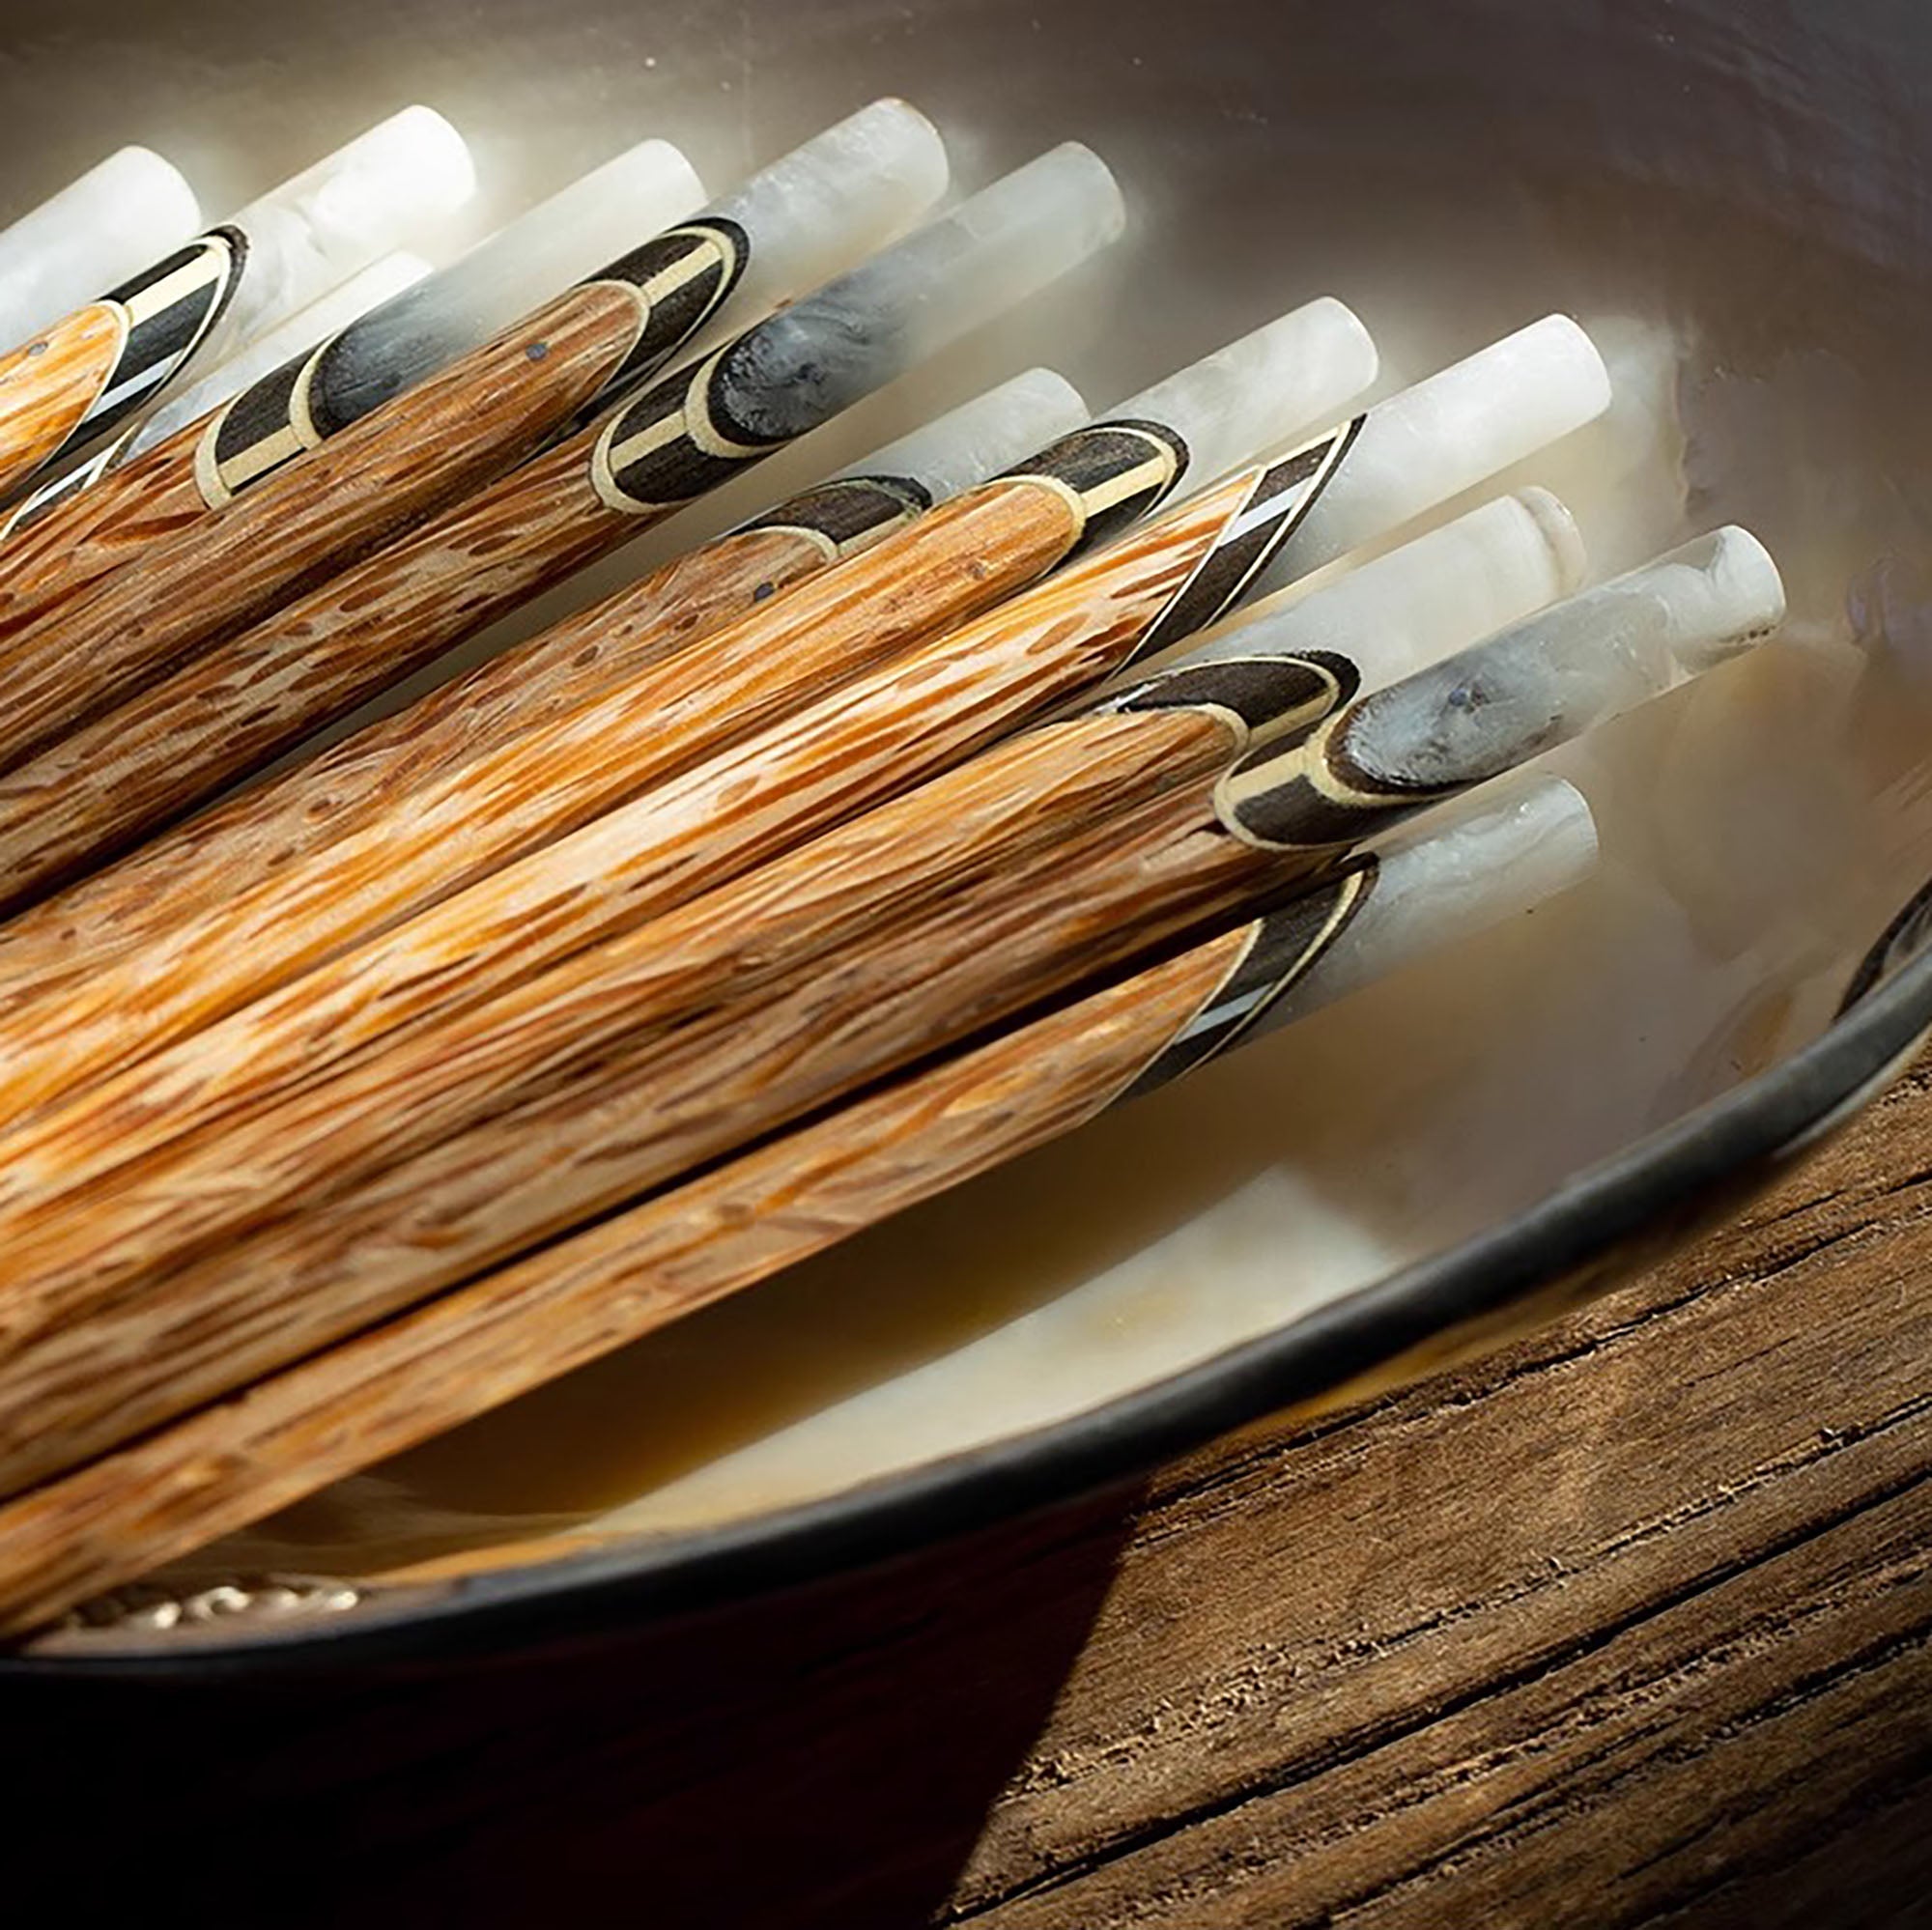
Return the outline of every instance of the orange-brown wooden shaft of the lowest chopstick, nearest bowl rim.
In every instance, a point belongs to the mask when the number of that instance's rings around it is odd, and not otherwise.
[[[1074,1130],[1244,943],[1231,933],[1037,1020],[0,1509],[0,1636]]]

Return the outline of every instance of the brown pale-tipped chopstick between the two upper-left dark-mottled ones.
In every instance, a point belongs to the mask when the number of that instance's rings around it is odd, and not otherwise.
[[[191,514],[139,570],[12,632],[0,641],[0,765],[514,469],[597,398],[661,367],[726,301],[750,319],[794,294],[798,274],[864,257],[902,232],[943,187],[939,137],[895,102],[854,122],[641,243],[222,514]],[[879,122],[904,147],[898,166],[879,166]],[[763,222],[755,234],[753,220]],[[556,466],[553,454],[518,475],[541,497]],[[147,502],[160,512],[158,498]]]

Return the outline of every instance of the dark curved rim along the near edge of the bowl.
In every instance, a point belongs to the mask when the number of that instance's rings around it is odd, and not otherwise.
[[[1582,1169],[1538,1204],[1144,1389],[819,1501],[696,1532],[560,1553],[419,1588],[355,1613],[89,1654],[0,1654],[23,1675],[218,1677],[458,1665],[618,1638],[680,1615],[833,1580],[1132,1482],[1426,1343],[1522,1308],[1714,1194],[1770,1184],[1905,1074],[1932,1036],[1932,887],[1899,914],[1810,1045]],[[1897,962],[1897,952],[1911,956]]]

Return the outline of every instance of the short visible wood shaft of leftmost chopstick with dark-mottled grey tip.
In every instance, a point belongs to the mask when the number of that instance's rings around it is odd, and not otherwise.
[[[104,578],[201,522],[209,506],[195,487],[199,440],[201,425],[189,423],[0,539],[0,639],[79,609]]]

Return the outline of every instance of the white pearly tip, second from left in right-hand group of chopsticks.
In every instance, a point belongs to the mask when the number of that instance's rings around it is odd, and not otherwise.
[[[1308,301],[1109,415],[1157,421],[1188,444],[1188,479],[1209,483],[1333,421],[1381,367],[1362,319],[1333,296]]]

